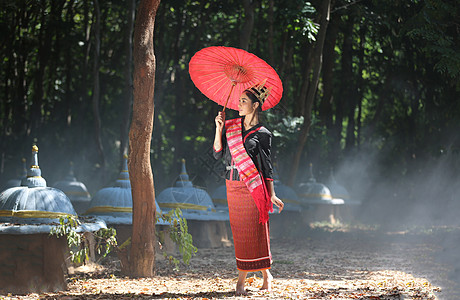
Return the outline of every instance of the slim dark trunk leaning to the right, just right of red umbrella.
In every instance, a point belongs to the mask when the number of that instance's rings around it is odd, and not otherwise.
[[[289,176],[289,185],[294,185],[295,178],[297,176],[297,171],[299,169],[300,159],[302,157],[303,149],[305,143],[307,142],[308,132],[310,131],[311,125],[311,112],[313,108],[313,103],[315,100],[316,90],[318,88],[319,74],[321,71],[322,65],[322,53],[324,40],[326,38],[327,25],[329,24],[329,15],[331,11],[331,0],[326,0],[321,2],[321,19],[320,19],[320,29],[318,31],[318,38],[313,52],[313,75],[311,82],[308,84],[308,92],[306,98],[300,98],[300,101],[305,101],[305,112],[304,112],[304,121],[300,131],[300,137],[296,152],[294,154],[294,159],[291,169],[291,174]]]

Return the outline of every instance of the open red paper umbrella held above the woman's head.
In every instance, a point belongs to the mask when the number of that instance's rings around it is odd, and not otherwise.
[[[281,100],[283,84],[276,71],[265,61],[242,49],[213,46],[201,49],[189,63],[195,86],[209,99],[238,110],[241,93],[266,80],[270,95],[262,110],[272,108]]]

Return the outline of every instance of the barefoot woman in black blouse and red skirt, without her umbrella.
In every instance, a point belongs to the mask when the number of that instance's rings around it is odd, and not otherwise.
[[[238,282],[236,295],[246,295],[248,272],[262,271],[261,290],[271,290],[268,213],[275,204],[281,212],[284,203],[276,196],[270,158],[271,133],[259,123],[259,112],[269,90],[259,84],[245,90],[239,99],[241,118],[225,121],[215,118],[214,157],[226,164],[227,201],[235,246]]]

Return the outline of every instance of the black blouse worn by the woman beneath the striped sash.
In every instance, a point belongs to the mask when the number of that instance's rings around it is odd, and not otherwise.
[[[241,120],[243,122],[243,119]],[[227,143],[225,127],[222,132],[222,149],[214,149],[214,158],[224,160],[226,166],[225,178],[228,180],[240,180],[238,170],[232,161],[232,155]],[[257,124],[254,127],[243,131],[243,142],[246,152],[259,170],[264,179],[273,180],[273,165],[270,157],[272,133]]]

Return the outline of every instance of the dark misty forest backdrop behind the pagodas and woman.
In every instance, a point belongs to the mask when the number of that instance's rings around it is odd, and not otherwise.
[[[157,193],[186,159],[195,185],[223,184],[212,158],[219,106],[188,62],[207,46],[243,48],[283,81],[264,113],[281,181],[331,170],[363,220],[457,223],[460,5],[456,0],[163,1],[155,25],[151,161]],[[74,163],[94,194],[128,149],[135,0],[0,3],[0,186],[31,145],[52,186]],[[329,18],[325,18],[328,16]],[[374,214],[375,212],[378,212]],[[391,217],[390,217],[391,216]]]

